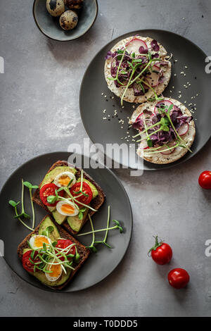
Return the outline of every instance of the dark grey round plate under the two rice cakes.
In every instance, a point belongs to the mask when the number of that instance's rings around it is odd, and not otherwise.
[[[124,102],[124,109],[122,109],[120,106],[120,98],[110,92],[104,78],[104,63],[107,51],[109,51],[112,46],[121,39],[132,35],[141,35],[143,37],[156,39],[165,46],[168,54],[173,54],[172,77],[170,84],[167,89],[165,89],[164,96],[178,99],[181,102],[186,101],[186,106],[188,108],[191,108],[188,104],[196,104],[197,111],[193,114],[193,118],[196,120],[196,139],[191,148],[193,153],[191,154],[188,152],[186,156],[177,162],[166,165],[157,165],[147,161],[144,161],[143,163],[144,170],[170,168],[196,155],[196,153],[200,151],[208,141],[211,134],[211,75],[205,73],[206,55],[198,48],[198,46],[188,39],[164,30],[139,30],[122,35],[104,46],[89,64],[82,80],[79,96],[82,121],[91,141],[102,144],[105,151],[106,144],[108,143],[122,144],[122,142],[124,142],[128,145],[129,143],[133,143],[132,136],[136,135],[137,131],[134,129],[128,130],[127,124],[128,117],[130,117],[134,111],[134,108],[132,107],[133,104]],[[177,61],[174,63],[175,59]],[[181,75],[182,72],[186,75]],[[188,85],[188,88],[186,89],[184,85],[187,85],[187,83],[191,84],[191,86]],[[179,99],[180,94],[181,99]],[[198,94],[198,96],[196,96],[196,94]],[[111,99],[113,96],[114,99]],[[134,104],[135,108],[136,106],[137,105]],[[106,109],[106,113],[103,113],[104,109]],[[117,117],[113,118],[112,116],[115,109],[117,110]],[[110,117],[108,115],[110,115]],[[103,120],[103,117],[106,117],[107,120]],[[108,120],[108,118],[110,120]],[[124,125],[119,123],[121,119],[124,120]],[[122,126],[123,129],[121,128]],[[128,138],[129,142],[125,139],[128,135],[130,135]],[[136,158],[137,156],[135,158],[129,158],[129,166],[131,168],[137,168]],[[114,160],[117,161],[115,155]],[[120,160],[120,164],[125,164],[124,160]]]

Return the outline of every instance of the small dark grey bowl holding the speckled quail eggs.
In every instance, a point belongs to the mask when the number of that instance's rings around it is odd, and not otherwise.
[[[77,11],[79,20],[75,29],[64,31],[59,25],[59,17],[52,17],[46,10],[45,0],[34,0],[34,21],[39,30],[51,39],[68,42],[82,37],[94,25],[98,15],[97,0],[84,0],[83,8]]]

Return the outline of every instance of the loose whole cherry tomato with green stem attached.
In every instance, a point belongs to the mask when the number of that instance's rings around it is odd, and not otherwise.
[[[148,253],[150,252],[153,260],[160,265],[169,263],[172,259],[172,249],[170,245],[162,241],[158,242],[158,236],[155,237],[155,246],[153,246]]]

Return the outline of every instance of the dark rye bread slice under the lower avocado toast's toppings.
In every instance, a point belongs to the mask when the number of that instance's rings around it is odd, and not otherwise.
[[[77,251],[80,254],[80,258],[79,258],[79,263],[77,264],[73,264],[73,267],[75,268],[75,270],[72,270],[72,273],[70,274],[70,277],[68,278],[68,280],[66,280],[66,282],[63,283],[63,285],[60,286],[49,286],[51,287],[51,289],[63,289],[63,287],[65,287],[65,285],[68,284],[68,282],[70,282],[70,280],[72,280],[72,277],[75,275],[75,273],[77,273],[77,271],[79,270],[79,268],[81,268],[81,266],[84,264],[84,262],[87,260],[87,258],[89,257],[90,251],[89,249],[87,249],[87,247],[85,247],[84,245],[82,245],[80,242],[77,241],[77,239],[75,239],[74,237],[72,237],[67,231],[65,231],[63,229],[63,227],[61,227],[60,225],[58,225],[53,218],[50,215],[46,215],[44,217],[43,220],[41,220],[41,223],[44,222],[44,220],[49,217],[51,218],[53,224],[57,227],[59,235],[61,238],[64,239],[70,239],[72,242],[74,242],[77,246]],[[18,257],[20,258],[20,260],[22,261],[22,256],[23,256],[23,249],[27,249],[29,248],[28,244],[27,244],[27,240],[30,240],[30,238],[32,237],[32,235],[37,235],[39,232],[39,227],[41,225],[41,223],[39,223],[39,225],[37,225],[37,227],[35,227],[34,231],[30,233],[30,235],[27,235],[27,237],[25,237],[25,239],[23,239],[23,242],[21,242],[18,246],[17,249],[17,253],[18,253]],[[46,285],[48,286],[48,285]]]

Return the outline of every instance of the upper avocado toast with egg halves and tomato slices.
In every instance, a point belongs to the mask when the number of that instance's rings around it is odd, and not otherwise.
[[[33,201],[76,234],[103,204],[103,189],[84,170],[57,161],[34,192]]]

